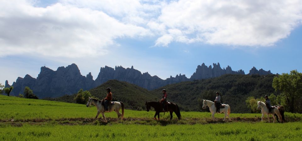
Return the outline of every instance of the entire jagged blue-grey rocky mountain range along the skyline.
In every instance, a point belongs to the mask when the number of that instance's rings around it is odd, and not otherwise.
[[[233,71],[230,66],[221,68],[219,63],[213,63],[213,68],[210,65],[207,67],[204,63],[196,68],[196,72],[193,73],[190,79],[186,75],[176,75],[175,77],[170,76],[165,80],[159,77],[151,76],[148,72],[141,73],[140,71],[133,68],[123,68],[122,66],[115,66],[110,68],[105,66],[100,68],[98,77],[93,80],[91,73],[82,76],[79,68],[76,64],[71,64],[65,67],[59,67],[56,71],[53,71],[47,67],[41,67],[41,71],[38,77],[32,78],[30,75],[25,75],[24,78],[18,77],[16,82],[12,84],[14,89],[11,95],[23,94],[26,86],[30,87],[34,94],[39,98],[44,97],[59,97],[62,95],[70,95],[76,93],[78,90],[89,90],[97,87],[108,80],[119,80],[125,81],[137,86],[152,90],[168,84],[175,84],[183,81],[200,80],[219,77],[224,74],[245,74],[243,70]],[[249,75],[252,74],[272,74],[271,71],[259,71],[253,67],[250,70]],[[5,87],[10,87],[8,81],[5,82]]]

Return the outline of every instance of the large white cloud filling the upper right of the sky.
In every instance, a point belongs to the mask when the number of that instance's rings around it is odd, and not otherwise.
[[[157,24],[167,32],[181,30],[170,36],[183,43],[270,46],[301,24],[301,11],[300,0],[179,0],[162,8]],[[156,44],[168,45],[164,40]]]

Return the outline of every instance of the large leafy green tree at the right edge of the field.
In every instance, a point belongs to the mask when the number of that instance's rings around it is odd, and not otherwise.
[[[276,92],[283,95],[290,112],[302,112],[300,104],[302,100],[302,73],[297,70],[292,70],[289,74],[282,73],[273,79],[272,86]]]

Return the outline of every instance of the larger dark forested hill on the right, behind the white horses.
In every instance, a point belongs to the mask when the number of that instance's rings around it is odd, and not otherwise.
[[[184,111],[202,111],[198,104],[202,99],[214,101],[215,92],[221,94],[221,102],[231,107],[231,112],[248,113],[245,100],[249,96],[264,97],[274,93],[272,81],[276,75],[233,75],[181,82],[151,91],[167,89],[168,100],[176,102]],[[275,94],[278,95],[278,94]],[[255,103],[256,104],[256,103]]]

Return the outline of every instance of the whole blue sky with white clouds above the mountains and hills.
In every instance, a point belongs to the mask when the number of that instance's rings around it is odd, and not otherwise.
[[[75,63],[161,79],[219,62],[302,72],[301,0],[0,0],[0,83]]]

